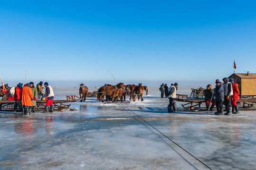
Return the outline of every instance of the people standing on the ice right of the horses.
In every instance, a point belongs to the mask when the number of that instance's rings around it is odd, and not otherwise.
[[[207,111],[212,111],[214,106],[216,106],[217,111],[214,113],[216,115],[231,115],[238,114],[237,100],[239,99],[240,92],[238,89],[238,84],[234,82],[233,78],[225,77],[222,79],[223,84],[217,79],[216,87],[212,89],[212,85],[207,85],[206,90],[204,91],[205,96],[205,105]],[[178,89],[178,84],[171,84],[171,87],[168,88],[167,84],[162,84],[159,88],[161,91],[161,98],[165,94],[165,97],[169,98],[168,112],[176,112],[176,91]],[[210,106],[211,103],[211,106]],[[225,105],[225,110],[223,110],[223,104]],[[171,110],[173,108],[173,110]],[[226,111],[226,113],[224,113]]]

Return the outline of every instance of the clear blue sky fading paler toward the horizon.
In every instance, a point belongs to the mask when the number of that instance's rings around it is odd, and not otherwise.
[[[234,59],[236,73],[256,73],[255,7],[254,0],[1,1],[0,76],[24,80],[27,69],[34,82],[114,83],[109,70],[126,84],[204,85],[230,76]]]

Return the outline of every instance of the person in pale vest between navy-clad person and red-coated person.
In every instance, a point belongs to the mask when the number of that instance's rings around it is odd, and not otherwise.
[[[232,114],[232,105],[231,105],[231,96],[233,95],[232,83],[228,82],[228,78],[225,77],[222,79],[224,83],[224,103],[226,108],[225,115]]]

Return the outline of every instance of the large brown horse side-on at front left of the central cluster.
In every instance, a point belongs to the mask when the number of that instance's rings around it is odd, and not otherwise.
[[[119,93],[123,92],[123,90],[123,83],[119,83],[118,85],[102,86],[99,88],[97,99],[99,100],[99,102],[104,102],[104,95],[109,95],[112,96],[112,102],[114,102],[115,96],[118,96]]]

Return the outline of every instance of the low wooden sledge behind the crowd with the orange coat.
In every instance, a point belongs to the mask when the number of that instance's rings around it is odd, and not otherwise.
[[[76,95],[67,95],[66,100],[53,100],[52,103],[54,105],[54,110],[64,110],[64,109],[68,109],[71,104],[63,104],[63,103],[76,102],[80,100],[81,98]],[[0,101],[0,111],[14,110],[13,108],[14,103],[15,101]],[[37,101],[36,110],[45,110],[45,104],[46,104],[46,101],[42,101],[42,100]]]

